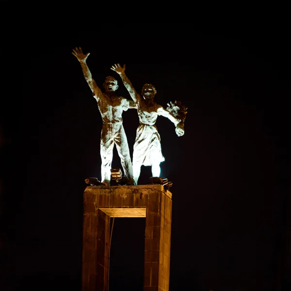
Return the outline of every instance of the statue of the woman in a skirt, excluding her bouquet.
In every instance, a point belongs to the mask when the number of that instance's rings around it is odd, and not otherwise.
[[[184,124],[181,119],[154,102],[157,91],[152,84],[144,84],[142,95],[140,95],[135,91],[126,76],[125,65],[121,67],[119,64],[115,64],[111,69],[119,74],[131,98],[137,105],[140,125],[136,130],[132,157],[133,178],[137,185],[142,165],[151,166],[152,177],[160,177],[160,163],[164,161],[164,157],[160,134],[155,126],[158,115],[167,117],[175,124],[178,136],[184,134]]]

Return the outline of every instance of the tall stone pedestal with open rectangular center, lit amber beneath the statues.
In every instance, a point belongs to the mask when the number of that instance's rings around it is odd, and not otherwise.
[[[172,194],[162,185],[84,191],[82,291],[107,291],[110,217],[146,217],[144,291],[168,291]]]

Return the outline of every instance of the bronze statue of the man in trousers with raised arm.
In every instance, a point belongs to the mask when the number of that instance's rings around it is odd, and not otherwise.
[[[123,167],[124,176],[128,178],[127,185],[134,185],[132,163],[129,154],[129,145],[122,124],[122,113],[129,108],[136,108],[132,100],[117,96],[115,91],[118,88],[117,81],[111,76],[105,78],[102,93],[92,78],[91,72],[86,64],[89,56],[83,54],[79,47],[73,49],[72,54],[78,59],[84,77],[92,90],[93,96],[97,101],[99,111],[101,113],[103,126],[101,131],[100,155],[101,155],[101,182],[107,186],[110,185],[111,179],[111,163],[113,159],[113,147],[116,146],[120,161]]]

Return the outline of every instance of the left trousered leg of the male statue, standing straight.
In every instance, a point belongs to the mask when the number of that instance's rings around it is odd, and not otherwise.
[[[101,182],[105,182],[107,186],[110,186],[111,180],[111,163],[113,159],[113,139],[108,140],[106,143],[100,144],[101,155]]]

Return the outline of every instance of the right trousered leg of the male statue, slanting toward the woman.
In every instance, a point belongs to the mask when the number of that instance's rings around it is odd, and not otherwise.
[[[120,157],[124,176],[129,179],[129,184],[132,183],[133,185],[133,171],[129,154],[129,145],[123,126],[120,128],[119,134],[114,138],[114,142]]]

